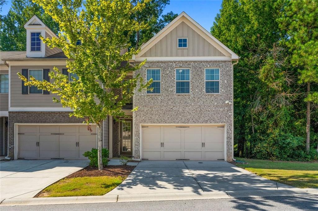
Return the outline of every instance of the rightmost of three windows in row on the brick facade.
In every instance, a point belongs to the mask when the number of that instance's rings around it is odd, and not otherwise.
[[[220,69],[205,69],[205,93],[220,93]]]

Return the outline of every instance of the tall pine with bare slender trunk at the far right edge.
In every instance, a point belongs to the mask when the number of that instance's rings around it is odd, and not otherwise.
[[[318,92],[311,90],[318,83],[318,0],[281,1],[285,7],[279,19],[280,27],[287,32],[291,62],[300,68],[299,83],[307,86],[306,151],[309,152],[310,114],[313,104],[318,103]]]

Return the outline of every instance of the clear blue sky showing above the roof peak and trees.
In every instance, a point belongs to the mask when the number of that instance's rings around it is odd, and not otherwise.
[[[173,11],[180,14],[186,12],[206,30],[210,31],[214,18],[221,9],[222,0],[170,0],[163,14]],[[11,1],[3,6],[1,15],[6,15],[10,9]]]

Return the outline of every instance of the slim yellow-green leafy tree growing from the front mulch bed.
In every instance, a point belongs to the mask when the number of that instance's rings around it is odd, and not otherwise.
[[[30,76],[30,81],[21,74],[19,77],[27,86],[51,91],[59,96],[53,98],[63,107],[70,107],[70,116],[85,118],[86,123],[97,125],[98,136],[98,168],[102,165],[102,122],[108,115],[124,116],[122,106],[130,102],[139,82],[138,91],[151,83],[143,84],[137,75],[130,80],[123,80],[129,72],[140,69],[145,63],[130,66],[121,65],[138,53],[130,48],[129,36],[146,27],[137,23],[131,16],[141,11],[145,3],[133,5],[129,0],[33,0],[43,7],[45,13],[52,16],[61,32],[59,37],[41,38],[50,48],[58,47],[69,58],[66,61],[68,72],[76,74],[78,79],[63,75],[54,67],[49,73],[52,81],[38,81]],[[85,9],[81,9],[81,8]],[[77,45],[77,41],[81,45]],[[124,52],[123,49],[129,49]],[[122,94],[114,91],[121,89]],[[133,110],[136,110],[134,108]],[[118,119],[117,119],[118,120]]]

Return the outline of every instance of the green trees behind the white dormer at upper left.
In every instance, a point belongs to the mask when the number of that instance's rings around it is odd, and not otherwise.
[[[2,3],[2,1],[0,1]],[[44,13],[41,6],[32,0],[12,0],[7,15],[1,16],[0,50],[25,51],[26,30],[24,24],[33,16],[40,18],[54,33],[58,33],[59,24]]]

